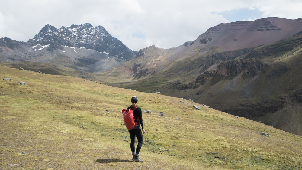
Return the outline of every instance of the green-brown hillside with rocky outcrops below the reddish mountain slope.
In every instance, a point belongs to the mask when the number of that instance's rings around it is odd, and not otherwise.
[[[258,47],[194,49],[158,65],[144,56],[95,74],[108,85],[192,99],[217,110],[302,135],[302,34]],[[157,53],[156,53],[157,52]],[[155,53],[155,54],[154,54]],[[188,57],[190,56],[191,57]],[[151,57],[150,57],[151,56]],[[129,71],[129,68],[140,68]],[[127,74],[125,70],[128,70]],[[136,78],[136,74],[142,75]]]

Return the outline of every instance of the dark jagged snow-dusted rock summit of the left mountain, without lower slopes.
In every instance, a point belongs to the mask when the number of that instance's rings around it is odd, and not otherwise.
[[[127,48],[120,40],[112,37],[104,27],[93,27],[90,23],[71,25],[70,27],[55,28],[45,25],[39,34],[29,40],[32,45],[49,45],[48,51],[63,49],[61,45],[68,47],[85,47],[98,52],[108,53],[108,57],[119,57],[131,60],[135,53]]]

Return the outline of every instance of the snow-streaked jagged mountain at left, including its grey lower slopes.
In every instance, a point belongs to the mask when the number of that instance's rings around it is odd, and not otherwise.
[[[107,70],[136,56],[104,27],[91,24],[55,28],[45,25],[28,42],[0,39],[1,62],[50,62],[76,70]]]

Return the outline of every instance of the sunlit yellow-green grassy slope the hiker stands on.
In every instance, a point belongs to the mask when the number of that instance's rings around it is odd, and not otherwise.
[[[19,169],[302,168],[301,136],[208,107],[196,110],[198,103],[2,66],[0,77],[0,169],[9,163]],[[142,110],[152,110],[143,112],[143,163],[130,160],[121,114],[133,95]]]

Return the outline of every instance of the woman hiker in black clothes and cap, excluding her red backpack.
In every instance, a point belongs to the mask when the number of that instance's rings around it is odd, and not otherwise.
[[[136,106],[137,101],[138,101],[137,97],[133,96],[131,98],[132,105],[130,107],[128,107],[128,109],[130,108],[133,110],[133,116],[134,116],[135,122],[138,122],[137,125],[134,127],[134,129],[128,130],[128,133],[130,134],[130,139],[131,139],[130,148],[131,148],[132,155],[133,155],[132,160],[135,162],[143,162],[143,160],[141,160],[138,157],[138,154],[140,153],[140,149],[143,145],[143,134],[142,134],[142,131],[140,130],[140,125],[142,125],[143,133],[145,133],[145,130],[144,130],[143,119],[142,119],[142,110]],[[137,137],[137,140],[138,140],[136,152],[135,152],[135,146],[134,146],[135,136]]]

